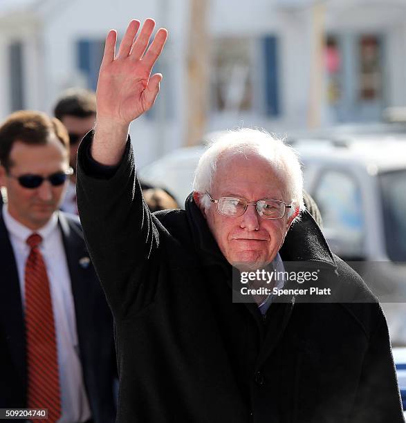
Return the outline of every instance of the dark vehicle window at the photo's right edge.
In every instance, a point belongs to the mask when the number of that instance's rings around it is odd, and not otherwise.
[[[379,176],[387,254],[391,261],[406,261],[406,170]]]

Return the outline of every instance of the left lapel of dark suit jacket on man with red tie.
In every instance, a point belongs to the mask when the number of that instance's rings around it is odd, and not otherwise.
[[[0,208],[0,321],[3,322],[10,356],[15,361],[19,377],[26,386],[26,330],[21,303],[21,290],[14,251]]]

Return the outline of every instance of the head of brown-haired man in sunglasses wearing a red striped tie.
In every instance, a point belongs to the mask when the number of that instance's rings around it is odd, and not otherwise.
[[[64,125],[38,111],[17,111],[0,126],[0,185],[10,216],[30,229],[46,225],[66,189],[69,138]]]

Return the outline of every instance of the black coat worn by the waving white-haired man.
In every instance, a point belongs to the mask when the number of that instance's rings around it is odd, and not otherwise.
[[[118,422],[403,422],[387,323],[309,214],[283,260],[320,261],[367,303],[232,302],[232,267],[192,197],[150,214],[130,143],[116,171],[78,156],[89,252],[116,323]]]

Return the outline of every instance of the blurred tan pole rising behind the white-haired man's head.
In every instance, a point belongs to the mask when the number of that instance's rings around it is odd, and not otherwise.
[[[205,133],[208,107],[209,37],[207,0],[190,0],[187,46],[187,132],[185,144],[195,145]]]

